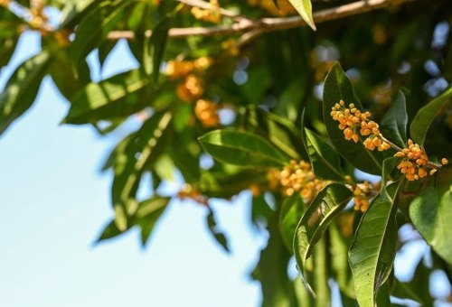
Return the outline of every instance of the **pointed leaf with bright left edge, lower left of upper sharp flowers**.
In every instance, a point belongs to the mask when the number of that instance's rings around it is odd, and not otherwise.
[[[344,181],[341,158],[334,148],[305,128],[306,146],[315,175],[329,181]]]

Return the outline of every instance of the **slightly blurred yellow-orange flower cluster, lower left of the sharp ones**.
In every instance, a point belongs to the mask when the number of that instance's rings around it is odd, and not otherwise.
[[[306,203],[314,200],[317,193],[326,185],[325,181],[316,178],[309,163],[294,160],[281,171],[269,172],[268,181],[270,188],[278,186],[288,196],[299,192]]]

